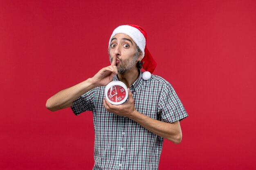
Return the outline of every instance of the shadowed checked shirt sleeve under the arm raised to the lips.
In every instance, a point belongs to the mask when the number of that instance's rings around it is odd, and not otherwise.
[[[94,109],[94,89],[81,95],[72,104],[71,109],[75,115],[85,111],[92,111]]]

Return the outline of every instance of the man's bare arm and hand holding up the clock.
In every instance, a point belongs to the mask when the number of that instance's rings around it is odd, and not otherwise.
[[[175,144],[179,144],[182,140],[182,131],[180,128],[180,122],[175,121],[173,123],[166,123],[163,121],[152,119],[146,115],[139,113],[134,106],[134,100],[130,89],[128,90],[129,98],[125,104],[112,105],[107,100],[104,100],[104,107],[111,113],[116,115],[122,115],[129,117],[136,121],[138,124],[153,132],[154,134],[168,139]]]

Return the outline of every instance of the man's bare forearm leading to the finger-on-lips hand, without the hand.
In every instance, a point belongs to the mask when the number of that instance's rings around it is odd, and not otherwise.
[[[92,90],[96,86],[92,83],[91,78],[76,84],[70,88],[66,88],[52,97],[50,97],[46,102],[46,108],[51,111],[60,110],[72,106],[78,97]]]

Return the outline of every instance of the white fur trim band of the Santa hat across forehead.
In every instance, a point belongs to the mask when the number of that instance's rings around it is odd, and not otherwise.
[[[145,55],[145,46],[146,46],[146,39],[144,35],[135,27],[130,25],[121,25],[118,26],[112,33],[109,43],[108,43],[108,49],[110,48],[111,39],[118,33],[124,33],[128,35],[132,40],[137,44],[139,49],[141,50],[143,57]],[[142,58],[143,58],[142,57]]]

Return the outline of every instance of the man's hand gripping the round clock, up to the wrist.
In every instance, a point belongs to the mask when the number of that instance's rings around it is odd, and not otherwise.
[[[134,100],[132,98],[132,93],[130,92],[130,89],[128,88],[128,100],[126,103],[121,105],[112,105],[108,100],[104,99],[103,102],[104,107],[108,112],[114,113],[116,115],[121,115],[125,117],[132,117],[133,114],[135,114],[135,106],[134,106]]]

